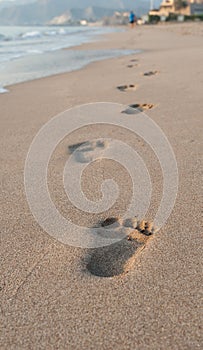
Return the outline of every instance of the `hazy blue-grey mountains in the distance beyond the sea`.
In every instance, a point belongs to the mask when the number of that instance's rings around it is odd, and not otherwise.
[[[148,2],[142,1],[140,5],[133,0],[38,0],[24,5],[13,4],[1,9],[0,23],[1,25],[40,25],[67,12],[77,20],[88,17],[85,14],[88,13],[88,8],[92,8],[93,18],[100,19],[104,15],[111,15],[115,10],[130,9],[132,3],[138,15],[148,10]]]

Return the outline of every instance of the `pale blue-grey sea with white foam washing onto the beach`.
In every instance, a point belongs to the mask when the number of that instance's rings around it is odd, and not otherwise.
[[[82,68],[90,62],[129,55],[134,50],[73,50],[120,31],[109,27],[0,27],[0,93],[7,86]],[[63,50],[70,48],[69,50]]]

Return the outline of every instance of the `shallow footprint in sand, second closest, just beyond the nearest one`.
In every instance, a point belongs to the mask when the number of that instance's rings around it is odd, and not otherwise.
[[[74,153],[75,160],[79,163],[89,163],[96,156],[102,155],[102,150],[108,147],[109,141],[100,139],[85,141],[68,146],[70,154]]]

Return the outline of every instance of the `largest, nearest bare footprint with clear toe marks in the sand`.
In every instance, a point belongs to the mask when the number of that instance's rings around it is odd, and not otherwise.
[[[101,226],[117,226],[115,232],[125,230],[125,237],[109,246],[93,250],[87,263],[87,270],[99,277],[115,277],[124,275],[133,267],[138,253],[146,247],[151,236],[157,232],[153,223],[145,220],[138,221],[136,217],[122,220],[107,218]]]

